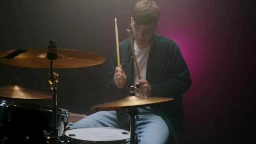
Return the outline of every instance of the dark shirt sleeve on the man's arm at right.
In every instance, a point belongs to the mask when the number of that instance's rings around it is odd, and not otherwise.
[[[174,48],[171,52],[173,56],[171,56],[170,65],[168,65],[168,69],[171,69],[171,71],[164,81],[150,84],[152,96],[161,97],[161,95],[167,95],[175,98],[175,96],[182,95],[190,88],[191,80],[187,64],[179,47],[174,45]]]

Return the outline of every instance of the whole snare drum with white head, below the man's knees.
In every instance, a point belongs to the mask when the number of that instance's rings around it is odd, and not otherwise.
[[[119,128],[88,127],[65,131],[66,144],[125,144],[130,132]]]

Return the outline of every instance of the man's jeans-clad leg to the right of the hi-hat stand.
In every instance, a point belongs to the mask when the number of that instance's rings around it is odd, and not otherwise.
[[[135,119],[139,144],[166,144],[169,129],[165,121],[151,110],[139,109],[139,118]]]

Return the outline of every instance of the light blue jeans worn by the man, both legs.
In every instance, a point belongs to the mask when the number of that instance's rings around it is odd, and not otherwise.
[[[135,117],[135,133],[138,144],[166,144],[169,137],[167,124],[170,120],[160,111],[138,108],[138,119]],[[164,117],[165,121],[163,120]],[[111,127],[130,131],[130,116],[125,111],[99,111],[77,121],[69,129],[86,127]]]

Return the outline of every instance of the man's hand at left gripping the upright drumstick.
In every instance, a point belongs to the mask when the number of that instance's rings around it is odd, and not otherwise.
[[[125,83],[126,83],[126,75],[124,70],[122,69],[122,66],[120,65],[120,67],[115,67],[115,74],[114,74],[114,81],[115,81],[115,85],[119,88],[119,89],[123,89],[125,87]]]

